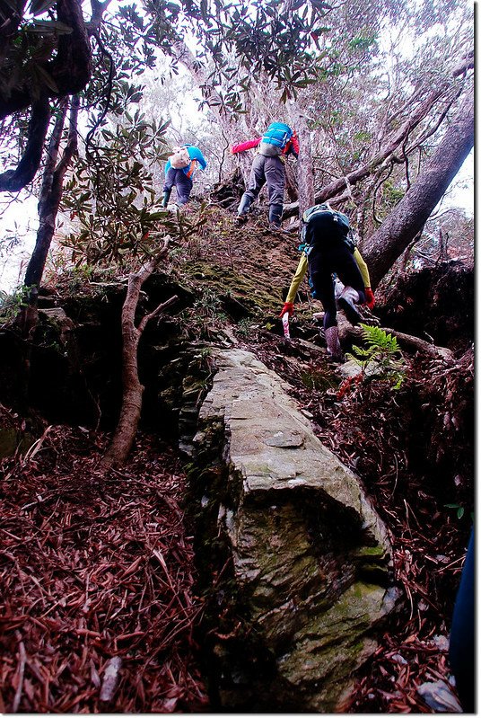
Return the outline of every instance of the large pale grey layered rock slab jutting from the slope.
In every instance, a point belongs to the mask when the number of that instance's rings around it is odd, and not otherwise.
[[[219,707],[341,711],[395,606],[386,529],[274,372],[240,349],[213,359],[191,478],[201,561],[217,575],[223,537],[242,625],[209,643]]]

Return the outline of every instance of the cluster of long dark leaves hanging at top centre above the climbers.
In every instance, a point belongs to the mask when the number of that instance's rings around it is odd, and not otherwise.
[[[175,55],[174,31],[178,41],[190,39],[199,63],[214,62],[209,83],[223,87],[220,96],[229,111],[240,110],[241,93],[260,76],[282,88],[284,100],[315,81],[316,43],[329,8],[322,0],[146,0],[144,5],[164,52]]]

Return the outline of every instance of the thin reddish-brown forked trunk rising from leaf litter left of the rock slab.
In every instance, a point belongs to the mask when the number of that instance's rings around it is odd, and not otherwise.
[[[101,464],[105,468],[123,465],[136,438],[142,410],[142,395],[144,394],[144,386],[142,386],[138,377],[137,349],[144,328],[150,319],[160,315],[166,306],[170,306],[178,299],[176,296],[171,297],[171,299],[154,309],[151,314],[145,315],[138,327],[136,327],[136,307],[140,290],[144,281],[151,276],[159,264],[159,261],[166,256],[168,244],[169,240],[166,239],[161,252],[142,270],[136,274],[131,274],[128,278],[127,297],[122,307],[122,407],[114,437],[102,457]]]

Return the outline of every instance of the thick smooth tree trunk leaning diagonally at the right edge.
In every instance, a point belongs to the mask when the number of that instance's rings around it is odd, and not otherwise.
[[[400,254],[423,228],[474,145],[474,102],[469,92],[458,115],[442,138],[424,171],[367,242],[363,252],[372,287],[389,271]]]

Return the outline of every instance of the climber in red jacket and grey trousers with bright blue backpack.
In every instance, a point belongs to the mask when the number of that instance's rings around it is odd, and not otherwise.
[[[258,152],[250,169],[248,187],[240,199],[237,217],[240,219],[247,215],[250,205],[267,182],[269,227],[279,231],[284,208],[285,159],[290,154],[297,158],[299,141],[289,125],[272,122],[262,137],[233,145],[231,152],[236,155],[253,147],[258,147]]]

